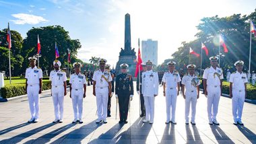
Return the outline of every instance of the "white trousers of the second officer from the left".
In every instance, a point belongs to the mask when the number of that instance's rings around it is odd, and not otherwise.
[[[63,103],[64,103],[64,86],[52,86],[53,106],[55,112],[55,120],[63,119]]]

